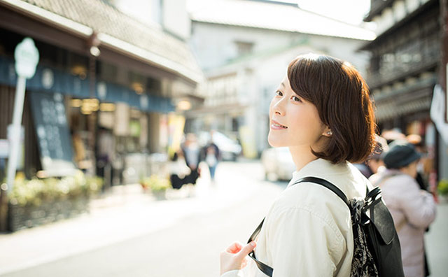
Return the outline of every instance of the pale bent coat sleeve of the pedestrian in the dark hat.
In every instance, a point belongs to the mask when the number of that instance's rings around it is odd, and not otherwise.
[[[434,197],[429,192],[420,190],[415,180],[408,180],[400,192],[400,208],[411,225],[426,228],[435,220]]]

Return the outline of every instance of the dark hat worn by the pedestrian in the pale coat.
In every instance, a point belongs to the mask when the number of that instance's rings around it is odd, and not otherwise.
[[[388,152],[384,153],[384,164],[388,169],[400,169],[420,159],[421,155],[414,145],[407,141],[393,141]]]

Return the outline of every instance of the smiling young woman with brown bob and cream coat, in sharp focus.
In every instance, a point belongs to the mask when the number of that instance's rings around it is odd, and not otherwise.
[[[274,269],[274,277],[350,276],[349,208],[321,185],[294,183],[314,176],[330,181],[349,199],[365,197],[370,183],[351,164],[363,162],[374,148],[365,81],[347,62],[301,55],[290,62],[269,118],[269,144],[289,147],[297,171],[269,209],[256,243],[232,243],[221,253],[221,276],[265,276],[247,257],[255,246],[255,256]]]

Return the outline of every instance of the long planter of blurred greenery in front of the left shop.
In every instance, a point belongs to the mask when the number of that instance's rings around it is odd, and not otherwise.
[[[86,178],[82,171],[62,178],[16,178],[8,195],[8,229],[15,231],[84,213],[89,197],[102,183],[102,178]]]

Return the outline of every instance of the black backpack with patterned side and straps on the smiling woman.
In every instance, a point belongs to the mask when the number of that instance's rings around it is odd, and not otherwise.
[[[393,219],[388,208],[381,201],[381,189],[375,187],[369,191],[365,199],[347,200],[344,192],[335,185],[316,177],[304,177],[296,183],[316,183],[335,192],[344,203],[349,206],[351,224],[353,227],[353,260],[351,262],[351,277],[404,277],[400,241],[393,225]],[[263,219],[253,232],[248,242],[260,233]],[[249,254],[258,269],[272,277],[274,269],[255,258],[252,251]]]

